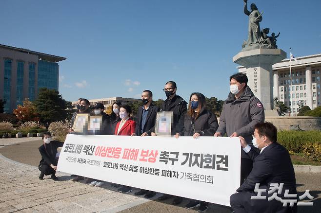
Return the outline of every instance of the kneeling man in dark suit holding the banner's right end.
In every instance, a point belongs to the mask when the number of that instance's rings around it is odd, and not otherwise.
[[[297,194],[289,152],[277,142],[278,130],[273,124],[260,123],[254,128],[253,145],[261,152],[257,153],[240,137],[243,151],[253,160],[253,168],[244,183],[236,190],[237,193],[231,195],[231,207],[235,213],[296,213],[296,202],[293,207],[290,207],[289,203],[286,207],[282,206],[282,202],[286,200],[297,199],[297,197],[289,198],[289,195]],[[256,188],[257,183],[260,183],[259,190]],[[279,187],[274,192],[277,197],[269,201],[268,197],[273,196],[272,192],[268,194],[269,189],[276,184],[281,186],[282,183],[282,189]],[[261,196],[265,197],[251,199],[251,196],[258,195],[255,190],[262,191]]]

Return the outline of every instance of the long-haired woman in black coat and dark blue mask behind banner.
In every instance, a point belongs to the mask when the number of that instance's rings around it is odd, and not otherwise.
[[[188,111],[185,114],[184,129],[175,136],[193,136],[197,139],[200,136],[213,136],[219,127],[216,116],[206,109],[205,96],[199,92],[193,92],[190,96]],[[208,209],[208,203],[199,200],[190,200],[186,205],[187,209],[199,206],[199,212],[204,213]]]

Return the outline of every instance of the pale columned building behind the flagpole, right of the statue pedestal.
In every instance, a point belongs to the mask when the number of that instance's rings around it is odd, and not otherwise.
[[[273,97],[290,108],[289,112],[298,113],[299,104],[314,109],[321,106],[321,54],[297,57],[291,60],[292,90],[290,88],[290,59],[273,65]],[[246,74],[245,67],[237,67]],[[291,102],[292,98],[292,102]]]

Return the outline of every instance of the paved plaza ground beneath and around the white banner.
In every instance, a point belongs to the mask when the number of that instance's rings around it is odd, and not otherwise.
[[[0,139],[0,212],[106,212],[106,213],[196,213],[186,210],[188,200],[179,206],[172,199],[159,202],[121,194],[110,183],[90,187],[84,181],[72,182],[70,176],[57,173],[59,181],[47,176],[39,180],[39,138]],[[321,173],[296,173],[298,193],[310,189],[313,207],[299,207],[299,213],[321,212]],[[215,193],[215,192],[213,192]],[[228,207],[211,204],[208,213],[229,213]]]

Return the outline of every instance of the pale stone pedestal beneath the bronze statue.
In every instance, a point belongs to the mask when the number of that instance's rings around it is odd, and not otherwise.
[[[233,62],[246,68],[247,85],[260,99],[265,110],[273,110],[272,65],[286,58],[281,49],[255,49],[242,51],[233,57]]]

